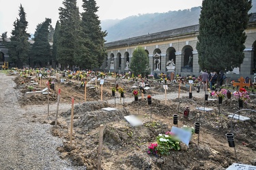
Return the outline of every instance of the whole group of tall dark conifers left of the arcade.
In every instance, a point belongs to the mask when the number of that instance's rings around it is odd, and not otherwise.
[[[83,0],[79,14],[76,0],[64,0],[59,7],[59,20],[55,30],[51,18],[38,24],[33,44],[29,43],[28,22],[24,7],[20,4],[18,18],[14,21],[10,41],[5,41],[7,32],[2,33],[3,44],[8,48],[10,63],[15,67],[46,67],[60,64],[62,69],[76,65],[81,69],[100,67],[106,56],[104,37],[100,20],[96,15],[98,7],[94,0]],[[49,42],[53,40],[53,49]]]

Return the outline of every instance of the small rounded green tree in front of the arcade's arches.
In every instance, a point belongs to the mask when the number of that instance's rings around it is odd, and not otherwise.
[[[134,75],[141,74],[145,76],[149,71],[149,59],[147,52],[142,47],[138,47],[132,52],[132,60],[130,62],[130,69]]]

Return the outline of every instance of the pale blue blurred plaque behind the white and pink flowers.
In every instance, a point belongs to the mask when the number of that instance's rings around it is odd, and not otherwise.
[[[174,133],[177,136],[177,138],[180,139],[180,141],[182,141],[183,143],[186,144],[186,146],[188,146],[188,143],[189,143],[189,141],[191,139],[191,135],[192,135],[192,133],[190,131],[186,131],[184,129],[172,126],[171,133]]]

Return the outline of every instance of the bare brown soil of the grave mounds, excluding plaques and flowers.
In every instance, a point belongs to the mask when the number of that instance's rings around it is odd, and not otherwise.
[[[35,78],[38,82],[38,79]],[[42,80],[46,84],[48,80]],[[29,78],[15,79],[16,88],[25,94],[30,82]],[[22,84],[24,82],[24,84]],[[87,102],[84,103],[84,87],[80,87],[77,80],[66,80],[60,83],[56,80],[55,89],[61,89],[61,103],[71,103],[74,97],[74,129],[72,146],[70,146],[70,115],[71,109],[61,112],[58,125],[52,127],[53,135],[63,139],[63,147],[57,148],[61,158],[69,158],[74,165],[86,165],[87,169],[97,169],[99,126],[104,125],[101,169],[226,169],[236,163],[234,148],[229,148],[225,133],[231,132],[231,119],[229,114],[238,111],[236,99],[225,99],[218,109],[217,101],[204,101],[203,93],[195,95],[193,101],[188,97],[171,99],[165,105],[165,90],[156,81],[150,81],[152,86],[152,105],[147,105],[146,97],[139,101],[126,102],[117,96],[116,106],[107,102],[111,97],[111,86],[115,80],[109,80],[103,86],[103,100],[100,101],[100,85],[98,88],[87,87]],[[120,86],[126,86],[126,98],[132,98],[133,81],[122,80]],[[91,83],[94,86],[94,83]],[[38,87],[39,88],[39,87]],[[42,88],[41,88],[42,89]],[[178,84],[170,84],[168,95],[177,95]],[[181,92],[188,88],[182,86]],[[195,92],[195,88],[193,88]],[[196,92],[195,92],[196,93]],[[119,93],[117,92],[117,95]],[[154,99],[154,95],[158,96]],[[159,97],[162,95],[162,97]],[[57,90],[51,90],[50,103],[57,103]],[[121,102],[120,102],[121,101]],[[180,102],[182,101],[182,102]],[[32,95],[20,97],[20,105],[47,105],[47,95]],[[213,108],[212,112],[199,112],[200,107]],[[183,117],[184,107],[190,106],[190,116]],[[103,107],[115,107],[116,111],[105,112]],[[244,105],[246,109],[255,109],[255,99]],[[178,112],[177,112],[178,110]],[[135,114],[143,120],[143,126],[132,127],[124,116]],[[181,151],[171,151],[169,156],[152,156],[147,154],[149,143],[156,141],[159,133],[170,131],[173,126],[173,114],[179,115],[178,127],[183,125],[194,126],[201,122],[200,136],[193,135],[189,148],[182,146]],[[256,114],[253,112],[240,112],[251,120],[242,122],[233,120],[233,133],[236,141],[236,154],[238,163],[256,166]],[[55,115],[49,117],[29,117],[32,122],[55,124]],[[199,137],[199,143],[198,143]]]

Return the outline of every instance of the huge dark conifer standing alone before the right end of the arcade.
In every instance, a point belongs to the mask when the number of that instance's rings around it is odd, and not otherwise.
[[[244,60],[251,0],[204,0],[197,51],[201,69],[232,71]]]

